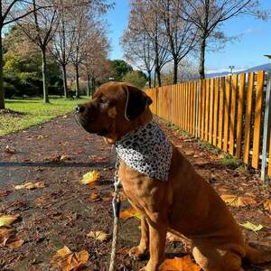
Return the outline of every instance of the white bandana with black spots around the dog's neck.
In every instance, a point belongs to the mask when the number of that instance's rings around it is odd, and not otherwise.
[[[116,142],[117,155],[139,173],[167,181],[173,145],[154,121],[124,135]]]

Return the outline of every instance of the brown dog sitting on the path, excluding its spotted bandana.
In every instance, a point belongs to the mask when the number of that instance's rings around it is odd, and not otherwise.
[[[101,86],[89,103],[77,107],[77,119],[89,133],[115,144],[152,121],[151,102],[145,92],[111,82]],[[176,148],[166,182],[136,171],[123,160],[118,175],[128,200],[142,213],[141,240],[129,253],[139,258],[149,249],[150,259],[142,270],[159,270],[167,231],[189,240],[204,271],[242,270],[244,257],[253,263],[271,260],[271,252],[245,244],[224,201]]]

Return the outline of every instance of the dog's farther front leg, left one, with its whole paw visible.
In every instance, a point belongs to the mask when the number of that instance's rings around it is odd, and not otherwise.
[[[138,260],[141,257],[145,256],[145,252],[148,247],[149,247],[149,225],[145,216],[143,216],[141,218],[141,239],[139,246],[131,248],[129,251],[129,256],[135,260]]]

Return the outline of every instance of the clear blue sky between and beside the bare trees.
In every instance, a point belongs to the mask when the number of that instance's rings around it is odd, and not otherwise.
[[[116,0],[115,3],[115,8],[107,14],[112,60],[123,59],[119,41],[129,19],[129,1]],[[260,3],[263,8],[271,10],[270,0],[260,0]],[[206,70],[229,70],[229,65],[235,66],[236,70],[243,70],[269,62],[264,54],[271,54],[271,20],[263,22],[252,16],[242,15],[224,23],[222,30],[226,35],[237,39],[226,43],[220,51],[208,51]]]

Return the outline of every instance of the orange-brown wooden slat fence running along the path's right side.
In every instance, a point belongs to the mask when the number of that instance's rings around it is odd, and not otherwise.
[[[146,89],[154,115],[271,176],[271,73]],[[269,157],[269,158],[268,158]]]

